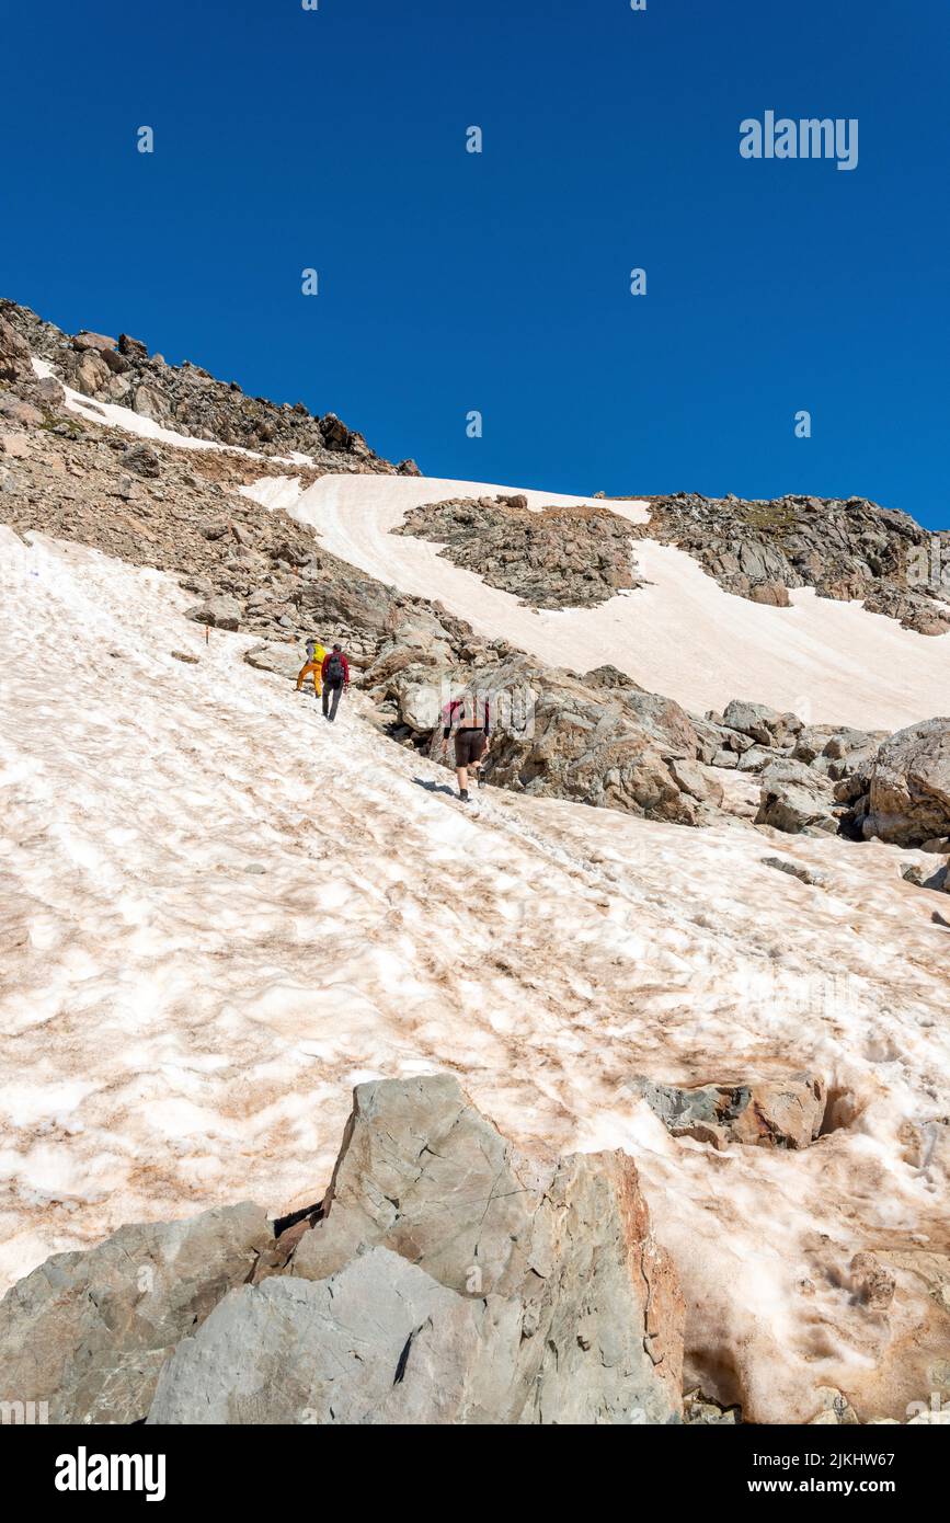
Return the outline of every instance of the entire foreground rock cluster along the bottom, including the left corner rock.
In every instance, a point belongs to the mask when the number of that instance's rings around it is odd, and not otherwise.
[[[361,1084],[323,1205],[122,1228],[0,1304],[53,1422],[682,1419],[684,1305],[624,1153],[528,1157],[455,1078]]]

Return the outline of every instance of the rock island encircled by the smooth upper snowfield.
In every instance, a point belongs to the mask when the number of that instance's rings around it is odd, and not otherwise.
[[[440,553],[531,608],[592,608],[639,586],[630,524],[598,507],[542,507],[525,496],[452,498],[411,509],[396,535]]]

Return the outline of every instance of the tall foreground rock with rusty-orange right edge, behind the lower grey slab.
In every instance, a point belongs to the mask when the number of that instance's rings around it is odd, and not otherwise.
[[[385,1247],[487,1302],[510,1371],[492,1421],[679,1419],[682,1304],[624,1153],[527,1157],[448,1075],[361,1084],[324,1212],[291,1275],[326,1282]],[[420,1413],[428,1365],[410,1351]]]

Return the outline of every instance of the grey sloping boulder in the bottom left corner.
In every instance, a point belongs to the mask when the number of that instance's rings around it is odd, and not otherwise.
[[[55,1253],[0,1302],[0,1401],[50,1422],[139,1422],[163,1362],[273,1240],[260,1206],[120,1228]]]

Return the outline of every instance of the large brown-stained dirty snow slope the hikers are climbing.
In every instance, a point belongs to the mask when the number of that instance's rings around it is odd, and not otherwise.
[[[323,501],[333,548],[381,553],[394,506]],[[385,544],[410,580],[426,547]],[[308,1205],[353,1083],[451,1069],[525,1144],[636,1157],[708,1394],[760,1421],[819,1384],[927,1400],[950,931],[912,857],[783,841],[818,889],[738,824],[466,815],[358,694],[332,728],[241,637],[206,644],[161,573],[0,528],[0,597],[5,1279],[128,1220]],[[627,1087],[805,1068],[836,1129],[804,1153],[674,1142]],[[868,1246],[903,1266],[891,1319],[848,1292]]]

